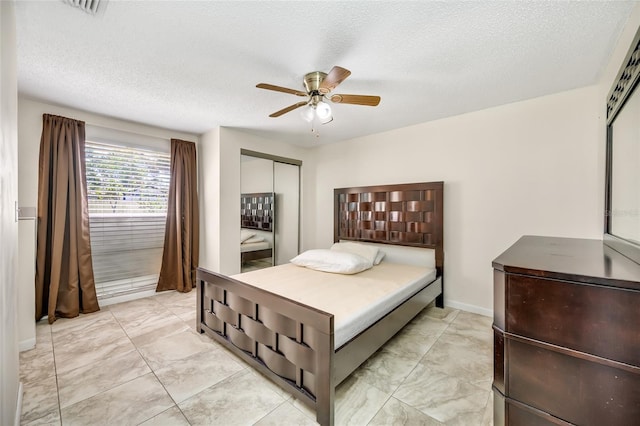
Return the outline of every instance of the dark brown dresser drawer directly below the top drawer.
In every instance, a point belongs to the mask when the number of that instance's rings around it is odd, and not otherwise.
[[[505,352],[505,387],[513,400],[579,425],[627,426],[640,419],[640,369],[604,365],[509,336]]]

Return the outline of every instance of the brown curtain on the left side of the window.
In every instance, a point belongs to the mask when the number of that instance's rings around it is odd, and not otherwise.
[[[84,122],[42,116],[36,321],[100,310],[89,239]]]

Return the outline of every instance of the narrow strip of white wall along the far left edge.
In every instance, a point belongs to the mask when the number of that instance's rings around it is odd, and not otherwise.
[[[18,223],[18,84],[15,12],[12,1],[0,2],[0,424],[20,421],[18,376],[17,247]]]

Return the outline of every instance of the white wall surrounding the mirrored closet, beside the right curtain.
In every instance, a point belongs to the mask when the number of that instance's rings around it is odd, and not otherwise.
[[[236,274],[240,272],[240,150],[302,161],[303,185],[306,167],[312,163],[310,151],[226,127],[203,134],[201,145],[200,183],[204,194],[200,202],[203,240],[200,266],[227,275]],[[304,210],[304,201],[302,203]]]

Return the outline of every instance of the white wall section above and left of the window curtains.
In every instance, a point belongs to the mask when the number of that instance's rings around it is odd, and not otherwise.
[[[194,134],[161,129],[20,97],[18,99],[18,182],[21,206],[37,207],[38,205],[38,159],[40,155],[40,137],[42,136],[42,114],[61,115],[82,120],[88,125],[136,133],[143,136],[161,139],[178,138],[192,141],[197,146],[199,145],[198,136]]]

